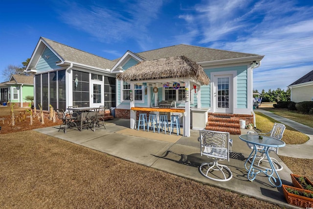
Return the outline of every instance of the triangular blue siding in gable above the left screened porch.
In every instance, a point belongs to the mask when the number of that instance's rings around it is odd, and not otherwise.
[[[45,56],[47,56],[48,58],[46,58]],[[61,69],[61,67],[55,64],[55,62],[59,60],[60,59],[48,47],[45,47],[45,50],[36,66],[37,72]]]

